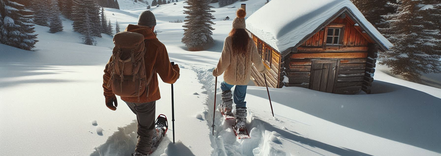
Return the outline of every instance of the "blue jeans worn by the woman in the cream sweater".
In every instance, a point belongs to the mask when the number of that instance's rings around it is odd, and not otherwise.
[[[228,84],[225,81],[221,83],[222,91],[230,91],[234,85]],[[245,95],[247,94],[247,85],[236,85],[234,88],[233,101],[236,107],[247,107],[245,102]]]

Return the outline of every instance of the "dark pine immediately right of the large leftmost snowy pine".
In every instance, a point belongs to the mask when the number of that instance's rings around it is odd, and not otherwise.
[[[34,23],[41,26],[49,26],[50,2],[49,0],[38,0],[34,2]]]

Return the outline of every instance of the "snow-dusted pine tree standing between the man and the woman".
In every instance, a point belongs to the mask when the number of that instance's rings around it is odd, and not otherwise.
[[[203,46],[213,43],[212,30],[214,23],[211,21],[215,12],[214,8],[209,5],[211,0],[187,0],[188,6],[184,6],[184,14],[187,14],[184,20],[186,22],[183,27],[184,37],[182,43],[185,44],[190,51],[202,51]]]

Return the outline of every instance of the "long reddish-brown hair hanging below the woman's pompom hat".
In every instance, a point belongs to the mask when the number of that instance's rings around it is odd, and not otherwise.
[[[241,54],[245,57],[248,51],[248,43],[250,42],[250,36],[248,36],[245,29],[235,29],[233,28],[229,34],[232,38],[232,52],[233,54]]]

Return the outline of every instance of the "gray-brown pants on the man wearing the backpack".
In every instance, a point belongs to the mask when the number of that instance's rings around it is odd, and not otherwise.
[[[156,101],[146,103],[126,102],[138,120],[138,143],[135,151],[148,155],[152,147],[153,129],[155,129]]]

